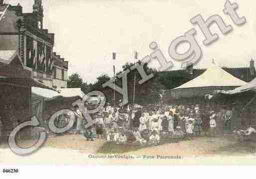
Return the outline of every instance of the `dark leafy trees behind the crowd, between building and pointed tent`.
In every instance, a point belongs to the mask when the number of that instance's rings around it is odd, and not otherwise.
[[[138,61],[141,64],[140,61]],[[144,64],[144,70],[147,75],[153,73],[154,77],[143,84],[139,84],[139,81],[142,79],[138,70],[131,70],[131,66],[135,63],[126,63],[122,66],[123,71],[130,69],[130,72],[127,74],[127,88],[128,88],[128,100],[129,103],[138,103],[140,105],[146,104],[154,104],[159,102],[161,98],[162,90],[165,87],[160,83],[160,76],[155,69],[149,68],[147,64]],[[122,71],[118,72],[118,74],[122,73]],[[136,77],[135,77],[136,76]],[[122,88],[122,78],[115,78],[115,84]],[[83,82],[82,78],[79,74],[74,73],[68,78],[68,88],[81,88],[82,91],[86,94],[89,91],[99,90],[102,91],[106,98],[107,102],[112,105],[118,105],[120,101],[123,99],[123,96],[118,92],[115,92],[115,102],[114,102],[114,90],[110,87],[102,87],[102,84],[109,81],[110,77],[107,74],[102,74],[97,77],[95,83],[87,84]],[[135,85],[135,93],[134,93],[134,85]],[[135,94],[135,95],[134,95]],[[133,96],[135,100],[133,101]]]

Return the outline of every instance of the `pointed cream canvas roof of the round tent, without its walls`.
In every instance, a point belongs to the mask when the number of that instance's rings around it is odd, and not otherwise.
[[[243,86],[246,84],[247,82],[236,78],[223,70],[220,66],[212,64],[202,75],[177,88],[174,88],[173,90],[212,86]]]

